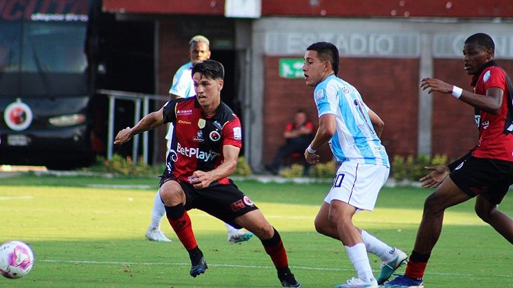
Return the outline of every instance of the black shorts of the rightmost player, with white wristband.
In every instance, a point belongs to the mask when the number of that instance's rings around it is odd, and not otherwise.
[[[470,197],[479,194],[497,205],[513,184],[513,162],[469,157],[449,177]]]

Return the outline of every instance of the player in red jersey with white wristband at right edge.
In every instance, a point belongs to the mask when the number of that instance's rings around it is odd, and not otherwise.
[[[472,197],[477,215],[513,243],[513,219],[497,209],[513,184],[513,91],[510,78],[494,61],[494,49],[487,34],[474,34],[465,41],[464,64],[472,75],[472,92],[433,78],[420,83],[429,93],[453,95],[475,108],[479,143],[454,163],[426,167],[432,172],[420,179],[422,186],[437,189],[424,204],[404,276],[385,286],[423,287],[424,269],[440,237],[445,209]]]

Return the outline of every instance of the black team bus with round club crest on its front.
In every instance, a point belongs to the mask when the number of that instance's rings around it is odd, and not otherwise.
[[[0,164],[93,156],[87,0],[0,0]]]

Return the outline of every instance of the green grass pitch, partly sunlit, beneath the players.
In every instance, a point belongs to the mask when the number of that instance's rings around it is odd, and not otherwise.
[[[280,287],[258,239],[230,245],[224,224],[201,211],[190,215],[209,264],[205,274],[189,275],[187,252],[166,219],[162,228],[173,242],[145,241],[157,181],[0,178],[0,242],[26,241],[36,256],[30,274],[17,280],[0,277],[0,287]],[[333,287],[356,276],[343,245],[313,226],[330,184],[238,181],[238,186],[280,231],[303,287]],[[355,223],[409,253],[429,193],[384,188],[375,211],[358,213]],[[513,215],[512,195],[501,210]],[[378,274],[379,260],[374,255],[370,260]],[[473,200],[446,212],[424,283],[429,288],[513,287],[512,245],[475,215]]]

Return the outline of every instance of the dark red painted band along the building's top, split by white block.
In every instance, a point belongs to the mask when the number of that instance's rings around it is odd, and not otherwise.
[[[224,0],[104,0],[108,12],[136,14],[225,13]],[[262,16],[348,17],[513,17],[513,5],[505,0],[262,0]]]

